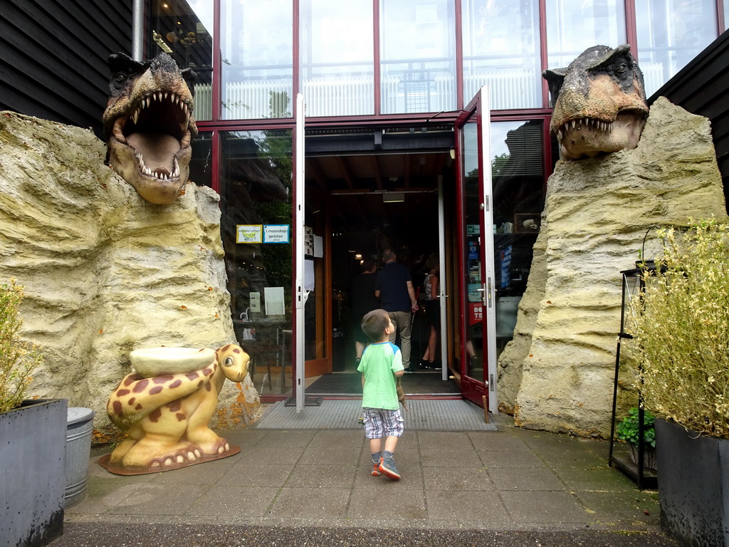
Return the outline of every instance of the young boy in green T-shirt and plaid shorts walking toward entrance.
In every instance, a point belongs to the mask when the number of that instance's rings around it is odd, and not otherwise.
[[[397,439],[402,436],[402,416],[395,379],[402,376],[404,368],[399,348],[389,341],[394,330],[390,315],[383,309],[375,309],[362,317],[362,331],[373,343],[364,349],[357,371],[362,373],[364,433],[370,439],[372,475],[383,474],[397,481],[400,475],[393,453]]]

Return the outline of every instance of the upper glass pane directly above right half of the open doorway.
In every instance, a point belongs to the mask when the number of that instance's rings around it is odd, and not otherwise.
[[[383,114],[456,109],[453,0],[381,0]]]

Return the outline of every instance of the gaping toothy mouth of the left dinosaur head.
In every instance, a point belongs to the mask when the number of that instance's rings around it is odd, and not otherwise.
[[[130,115],[114,120],[114,138],[131,147],[139,172],[160,181],[178,179],[179,152],[190,147],[191,112],[175,93],[151,93]]]

